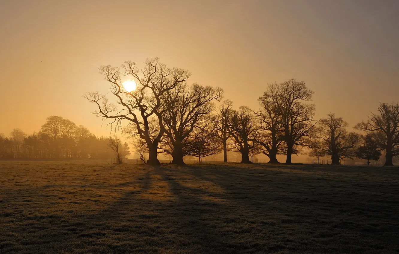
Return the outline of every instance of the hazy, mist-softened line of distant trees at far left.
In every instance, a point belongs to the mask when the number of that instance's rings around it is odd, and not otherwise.
[[[52,115],[32,135],[21,129],[14,129],[9,137],[0,133],[0,158],[110,158],[114,156],[113,149],[109,149],[110,140],[96,137],[83,125]],[[120,146],[120,154],[130,154],[127,143]]]

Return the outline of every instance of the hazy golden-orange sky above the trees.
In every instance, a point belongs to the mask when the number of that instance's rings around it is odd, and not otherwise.
[[[0,133],[59,115],[109,135],[83,98],[109,89],[98,66],[152,57],[237,108],[259,108],[270,82],[304,80],[316,118],[352,128],[399,101],[398,12],[395,0],[0,0]]]

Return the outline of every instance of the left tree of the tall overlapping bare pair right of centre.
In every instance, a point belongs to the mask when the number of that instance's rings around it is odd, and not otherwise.
[[[263,154],[269,157],[270,163],[279,163],[277,154],[283,154],[286,150],[282,149],[284,128],[277,88],[278,85],[269,84],[268,90],[258,99],[261,108],[259,112],[255,112],[259,122],[256,142],[266,149],[266,151],[263,150]]]

